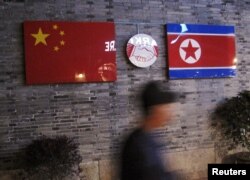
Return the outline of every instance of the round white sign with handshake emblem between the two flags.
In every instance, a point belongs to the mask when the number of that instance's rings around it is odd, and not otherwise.
[[[147,34],[137,34],[131,37],[126,51],[131,63],[142,68],[151,66],[158,57],[157,43]]]

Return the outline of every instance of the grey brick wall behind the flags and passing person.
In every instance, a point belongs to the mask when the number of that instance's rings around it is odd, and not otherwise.
[[[0,167],[12,168],[15,155],[33,139],[65,134],[80,143],[85,178],[88,169],[94,169],[89,174],[100,171],[100,179],[110,179],[102,177],[102,164],[108,167],[106,162],[117,157],[123,137],[139,124],[136,95],[143,83],[155,79],[182,94],[174,121],[157,132],[163,153],[173,159],[173,170],[189,169],[204,176],[199,173],[214,161],[211,111],[223,98],[250,89],[249,9],[249,0],[0,1]],[[117,81],[26,86],[24,20],[114,21]],[[237,77],[168,81],[164,29],[168,22],[234,25]],[[159,46],[159,58],[150,68],[136,68],[125,55],[128,39],[138,32],[151,35]]]

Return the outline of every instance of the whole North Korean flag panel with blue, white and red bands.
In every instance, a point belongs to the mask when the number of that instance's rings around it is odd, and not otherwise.
[[[234,26],[167,24],[170,79],[236,75]]]

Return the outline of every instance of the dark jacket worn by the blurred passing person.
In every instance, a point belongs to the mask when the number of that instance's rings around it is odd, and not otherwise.
[[[134,131],[122,151],[121,180],[172,180],[165,172],[152,135],[142,129]]]

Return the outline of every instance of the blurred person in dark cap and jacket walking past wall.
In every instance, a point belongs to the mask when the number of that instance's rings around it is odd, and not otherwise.
[[[152,81],[144,87],[141,100],[144,110],[142,126],[126,140],[121,159],[121,180],[172,180],[166,173],[153,131],[170,121],[174,92],[163,91]]]

